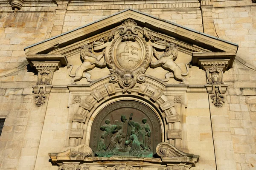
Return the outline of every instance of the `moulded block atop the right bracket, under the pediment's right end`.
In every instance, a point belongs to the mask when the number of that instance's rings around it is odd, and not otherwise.
[[[223,72],[230,69],[236,54],[230,52],[204,52],[193,53],[192,64],[198,65],[204,71],[207,71],[212,65],[217,65]]]

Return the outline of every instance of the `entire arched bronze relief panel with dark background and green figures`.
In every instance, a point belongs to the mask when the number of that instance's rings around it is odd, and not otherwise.
[[[92,130],[90,147],[100,157],[153,157],[161,139],[154,111],[129,100],[106,106],[93,121]]]

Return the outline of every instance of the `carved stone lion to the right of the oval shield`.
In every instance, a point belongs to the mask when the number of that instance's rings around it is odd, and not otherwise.
[[[174,77],[177,80],[182,81],[182,83],[186,83],[186,79],[184,79],[183,76],[187,76],[189,74],[189,63],[186,63],[187,72],[182,73],[180,67],[174,62],[178,56],[177,45],[167,43],[166,50],[162,55],[157,54],[157,51],[155,49],[153,49],[153,54],[154,57],[158,59],[158,61],[151,61],[150,66],[152,68],[162,66],[164,69],[170,71],[165,75],[166,79],[163,79],[164,82],[169,81],[169,78],[172,77],[173,72]]]

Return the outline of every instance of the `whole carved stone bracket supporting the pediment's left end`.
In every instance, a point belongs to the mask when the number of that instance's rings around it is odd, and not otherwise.
[[[61,66],[67,65],[67,58],[63,55],[33,55],[27,56],[29,65],[38,72],[38,80],[34,89],[35,105],[40,107],[45,103],[47,94],[52,88],[53,73]]]

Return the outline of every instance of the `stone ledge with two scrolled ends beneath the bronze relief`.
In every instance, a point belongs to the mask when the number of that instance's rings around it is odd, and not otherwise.
[[[78,167],[78,170],[83,170],[85,168],[95,169],[101,166],[104,166],[104,170],[145,170],[147,167],[155,167],[158,170],[188,170],[195,166],[199,160],[198,155],[182,152],[167,142],[159,143],[156,152],[157,158],[94,157],[91,148],[81,144],[61,153],[49,153],[49,156],[51,162],[59,165],[62,168],[61,170],[67,170],[67,167]],[[76,164],[73,164],[73,162],[76,162]],[[105,166],[105,162],[108,162],[108,166]],[[121,162],[126,162],[126,164]]]

